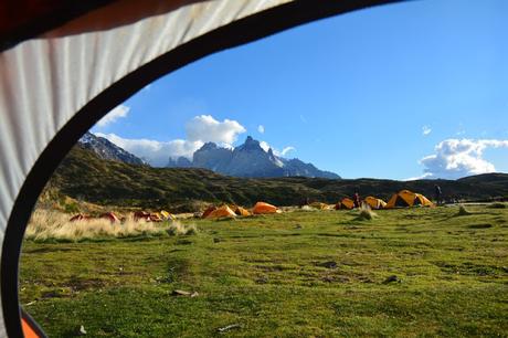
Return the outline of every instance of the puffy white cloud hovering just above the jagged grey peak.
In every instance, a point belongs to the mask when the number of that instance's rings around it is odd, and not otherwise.
[[[218,122],[211,115],[200,115],[186,125],[187,138],[190,141],[215,142],[231,146],[236,141],[239,134],[246,129],[235,120]]]

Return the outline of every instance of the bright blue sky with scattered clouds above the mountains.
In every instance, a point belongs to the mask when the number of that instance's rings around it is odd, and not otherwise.
[[[194,62],[92,131],[145,158],[252,135],[345,178],[508,172],[507,32],[504,0],[361,10]]]

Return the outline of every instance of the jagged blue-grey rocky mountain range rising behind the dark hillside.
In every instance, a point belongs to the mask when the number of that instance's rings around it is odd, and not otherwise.
[[[313,163],[294,158],[286,159],[265,151],[258,140],[247,136],[245,142],[234,149],[207,142],[198,149],[192,161],[184,157],[170,158],[169,168],[203,168],[241,178],[308,177],[340,179],[340,176],[316,168]]]

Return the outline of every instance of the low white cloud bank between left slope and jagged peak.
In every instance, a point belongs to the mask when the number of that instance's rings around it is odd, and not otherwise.
[[[145,138],[128,139],[115,134],[96,133],[96,135],[107,138],[118,147],[136,155],[154,167],[166,167],[169,157],[183,156],[192,159],[194,151],[203,146],[203,142],[200,140],[174,139],[163,142]]]

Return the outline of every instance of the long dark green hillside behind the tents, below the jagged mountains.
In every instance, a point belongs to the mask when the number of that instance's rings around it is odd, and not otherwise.
[[[488,200],[508,197],[508,175],[491,173],[452,180],[393,181],[378,179],[329,180],[288,177],[242,179],[195,168],[151,168],[99,159],[77,145],[63,160],[49,186],[77,200],[123,207],[174,208],[191,201],[253,205],[263,200],[294,205],[309,198],[335,203],[359,191],[388,199],[410,189],[433,197],[438,183],[445,198]]]

